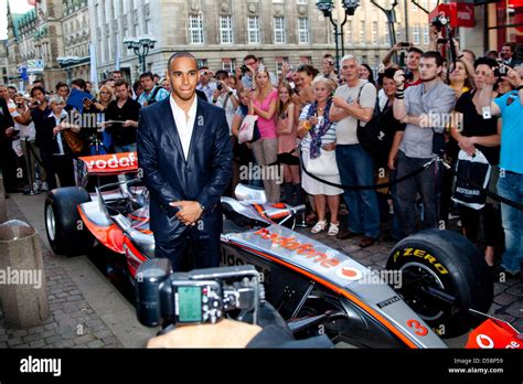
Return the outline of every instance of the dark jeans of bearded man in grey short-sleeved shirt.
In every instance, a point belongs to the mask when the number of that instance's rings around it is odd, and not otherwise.
[[[397,178],[403,178],[428,161],[430,161],[430,158],[408,158],[404,152],[399,151],[397,159]],[[408,236],[416,232],[416,199],[418,193],[423,200],[424,230],[438,227],[440,195],[439,174],[439,167],[437,167],[437,163],[433,163],[421,173],[397,184],[399,221],[405,235]]]

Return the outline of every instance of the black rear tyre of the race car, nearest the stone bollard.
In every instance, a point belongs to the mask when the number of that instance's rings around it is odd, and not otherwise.
[[[90,201],[79,186],[60,188],[45,199],[45,232],[55,254],[83,255],[94,245],[94,236],[82,222],[78,204]]]

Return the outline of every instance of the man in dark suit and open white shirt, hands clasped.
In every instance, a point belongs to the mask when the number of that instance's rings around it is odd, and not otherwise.
[[[180,270],[185,252],[194,267],[220,263],[220,196],[232,177],[225,113],[195,96],[198,64],[188,52],[168,62],[170,97],[142,108],[138,161],[150,192],[150,227],[156,256]]]

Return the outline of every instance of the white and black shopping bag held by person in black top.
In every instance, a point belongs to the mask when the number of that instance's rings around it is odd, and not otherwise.
[[[480,150],[477,150],[473,157],[468,156],[463,150],[459,151],[458,162],[456,164],[456,173],[458,175],[485,189],[489,185],[490,172],[491,166]],[[478,186],[470,184],[463,179],[459,177],[456,179],[452,201],[471,207],[472,210],[481,210],[485,204],[487,195],[481,192]]]

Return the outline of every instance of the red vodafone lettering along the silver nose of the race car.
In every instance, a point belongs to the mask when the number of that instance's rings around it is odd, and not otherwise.
[[[279,245],[280,247],[296,252],[296,255],[302,256],[318,263],[323,268],[337,267],[340,260],[331,258],[322,252],[314,249],[314,246],[310,243],[300,243],[296,237],[285,237],[276,233],[271,233],[267,228],[262,228],[254,233],[256,236],[260,236],[264,239],[270,241],[273,244]]]

